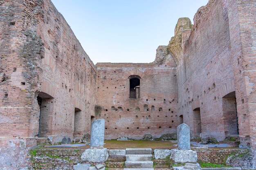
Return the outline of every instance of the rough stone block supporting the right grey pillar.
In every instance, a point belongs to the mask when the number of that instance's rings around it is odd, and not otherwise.
[[[198,156],[193,150],[172,149],[170,158],[180,163],[196,162],[198,160]]]

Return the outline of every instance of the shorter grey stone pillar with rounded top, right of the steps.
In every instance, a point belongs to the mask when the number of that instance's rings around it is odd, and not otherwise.
[[[178,148],[180,150],[190,150],[190,128],[186,124],[177,127]]]

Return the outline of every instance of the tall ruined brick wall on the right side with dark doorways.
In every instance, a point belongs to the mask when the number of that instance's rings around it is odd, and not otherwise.
[[[191,127],[192,137],[199,136],[199,126],[203,138],[238,135],[237,110],[240,146],[255,148],[254,4],[210,0],[195,14],[190,35],[184,28],[181,33],[175,31],[168,45],[176,54],[178,115]],[[173,44],[180,37],[179,53]]]

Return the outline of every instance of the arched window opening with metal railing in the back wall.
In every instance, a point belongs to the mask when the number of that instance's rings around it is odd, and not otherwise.
[[[140,79],[138,75],[131,75],[130,79],[130,99],[139,99],[140,97]]]

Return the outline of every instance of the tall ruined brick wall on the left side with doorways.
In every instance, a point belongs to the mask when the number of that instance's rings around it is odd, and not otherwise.
[[[49,0],[0,6],[0,168],[15,170],[28,167],[28,149],[36,145],[38,96],[40,137],[58,142],[90,132],[96,68]],[[75,108],[83,124],[74,122]]]

